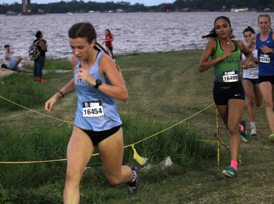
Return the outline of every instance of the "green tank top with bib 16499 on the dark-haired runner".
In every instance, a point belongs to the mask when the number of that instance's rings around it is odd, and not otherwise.
[[[219,39],[217,41],[217,48],[211,59],[215,59],[221,56],[224,50],[221,48]],[[229,87],[239,85],[241,83],[240,76],[240,54],[241,48],[235,40],[232,40],[235,44],[235,50],[231,51],[229,57],[225,58],[223,61],[218,62],[214,65],[215,80],[214,84],[222,87]]]

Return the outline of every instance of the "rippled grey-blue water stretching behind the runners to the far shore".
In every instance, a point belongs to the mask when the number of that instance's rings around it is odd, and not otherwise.
[[[243,30],[257,27],[256,12],[187,12],[187,13],[93,13],[49,14],[31,16],[0,15],[0,56],[4,45],[9,44],[16,56],[29,60],[28,48],[41,30],[47,40],[47,57],[68,58],[72,55],[67,31],[74,23],[91,22],[97,32],[97,42],[105,39],[105,29],[114,37],[114,54],[132,52],[204,48],[207,41],[201,39],[211,31],[214,19],[224,15],[230,18],[235,39],[243,40]],[[269,13],[274,21],[274,13]]]

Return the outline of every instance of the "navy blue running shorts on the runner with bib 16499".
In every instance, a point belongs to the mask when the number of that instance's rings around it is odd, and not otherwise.
[[[242,84],[229,88],[214,86],[213,99],[216,105],[227,105],[229,99],[245,100],[245,89]]]

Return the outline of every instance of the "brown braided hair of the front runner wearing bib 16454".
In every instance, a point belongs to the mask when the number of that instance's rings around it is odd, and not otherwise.
[[[72,39],[75,39],[77,37],[86,38],[89,44],[91,44],[94,39],[96,40],[96,37],[97,37],[96,31],[93,25],[91,25],[91,23],[89,22],[75,23],[69,28],[68,34],[69,34],[69,38],[72,38]],[[100,47],[100,49],[97,46]],[[97,51],[103,50],[107,55],[109,55],[109,53],[97,42],[95,42],[95,45],[93,48]],[[120,75],[122,76],[120,67],[117,64],[115,65]]]

